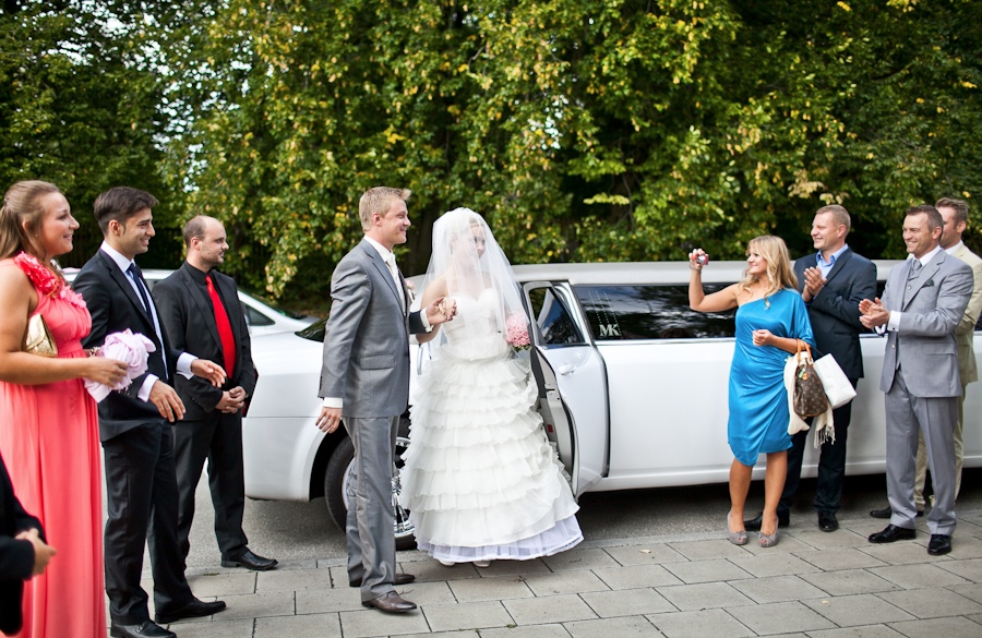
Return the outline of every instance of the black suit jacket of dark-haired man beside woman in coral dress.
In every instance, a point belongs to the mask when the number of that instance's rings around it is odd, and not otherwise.
[[[127,328],[144,335],[156,347],[156,351],[149,353],[147,371],[144,374],[134,378],[125,390],[111,392],[99,401],[99,438],[106,442],[137,425],[160,421],[163,417],[157,407],[151,401],[139,399],[136,393],[143,386],[147,374],[156,375],[164,383],[173,384],[177,360],[182,352],[170,347],[163,320],[160,320],[164,339],[161,344],[154,329],[153,317],[143,309],[127,275],[119,269],[112,257],[101,250],[96,251],[95,256],[79,272],[73,288],[85,299],[88,313],[92,315],[92,332],[82,340],[83,347],[101,346],[107,335]],[[148,290],[147,298],[151,303],[154,302]],[[157,317],[159,316],[158,311]],[[166,363],[161,352],[167,352]]]

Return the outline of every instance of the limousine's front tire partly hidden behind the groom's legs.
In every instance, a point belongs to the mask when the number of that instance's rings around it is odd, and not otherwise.
[[[409,513],[398,504],[398,496],[402,490],[398,470],[403,467],[403,452],[405,452],[407,445],[409,445],[409,419],[404,418],[399,424],[399,433],[396,438],[396,470],[392,481],[392,498],[395,514],[393,532],[396,539],[396,550],[399,551],[416,549],[416,537],[414,535],[412,526],[409,523]],[[324,470],[324,499],[327,503],[327,513],[342,530],[345,529],[345,522],[348,517],[348,498],[345,485],[354,470],[355,445],[346,436],[337,445],[334,454],[331,455],[331,459],[327,461],[327,469]]]

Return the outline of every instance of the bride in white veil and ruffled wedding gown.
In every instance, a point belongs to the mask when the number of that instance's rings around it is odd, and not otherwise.
[[[433,225],[422,303],[440,297],[454,299],[457,316],[419,335],[431,340],[432,361],[402,470],[419,549],[444,565],[478,567],[568,550],[583,540],[578,506],[535,411],[528,358],[508,344],[528,316],[507,258],[469,208]]]

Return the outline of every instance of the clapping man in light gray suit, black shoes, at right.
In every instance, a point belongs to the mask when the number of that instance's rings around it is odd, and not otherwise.
[[[955,423],[961,381],[955,329],[972,294],[972,270],[942,250],[944,221],[934,206],[912,206],[903,241],[913,258],[890,270],[883,301],[860,302],[861,322],[886,332],[881,389],[886,393],[887,496],[890,523],[870,537],[891,543],[917,535],[914,468],[924,435],[934,478],[927,553],[951,551],[955,531]],[[885,329],[885,330],[884,330]]]

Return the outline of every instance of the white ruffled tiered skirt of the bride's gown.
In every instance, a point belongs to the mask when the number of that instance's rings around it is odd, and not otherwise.
[[[400,474],[420,550],[455,563],[520,561],[583,540],[536,397],[527,362],[507,353],[432,361]]]

